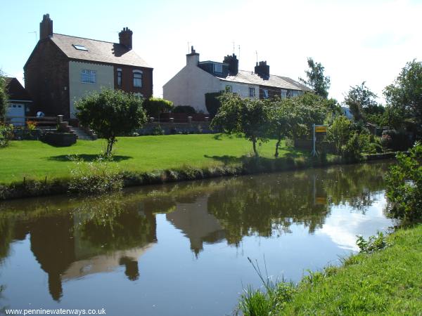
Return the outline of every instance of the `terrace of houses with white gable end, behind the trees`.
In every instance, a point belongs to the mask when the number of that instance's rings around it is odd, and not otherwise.
[[[162,87],[163,97],[174,105],[191,105],[207,112],[205,93],[231,91],[242,98],[288,98],[311,88],[288,77],[269,74],[266,61],[257,62],[254,71],[239,70],[236,55],[226,55],[223,62],[200,61],[199,53],[191,48],[186,66]]]

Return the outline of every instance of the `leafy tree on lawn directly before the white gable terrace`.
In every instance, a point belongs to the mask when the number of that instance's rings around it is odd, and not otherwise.
[[[232,93],[221,97],[222,107],[212,119],[212,128],[219,127],[226,133],[243,133],[252,142],[255,156],[258,156],[257,141],[269,140],[269,107],[264,100],[241,98]]]

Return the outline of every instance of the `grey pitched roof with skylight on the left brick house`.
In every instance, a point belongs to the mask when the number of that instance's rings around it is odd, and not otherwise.
[[[133,50],[122,44],[85,39],[83,37],[71,37],[57,33],[53,33],[50,38],[68,58],[151,68]],[[78,50],[73,45],[84,46],[87,51]]]

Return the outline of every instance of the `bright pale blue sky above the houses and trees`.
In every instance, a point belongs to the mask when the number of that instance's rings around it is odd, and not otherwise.
[[[216,61],[234,42],[242,70],[253,70],[257,52],[271,74],[292,79],[312,57],[339,101],[362,81],[382,96],[406,62],[422,60],[420,0],[4,1],[0,68],[20,81],[44,13],[61,34],[117,42],[122,27],[132,29],[134,50],[154,68],[155,96],[184,67],[188,42],[200,60]]]

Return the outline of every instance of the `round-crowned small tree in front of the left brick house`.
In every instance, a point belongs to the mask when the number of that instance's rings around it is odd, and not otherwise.
[[[116,137],[139,129],[146,121],[143,100],[132,93],[105,89],[78,100],[77,118],[101,138],[106,138],[106,155],[113,150]]]

